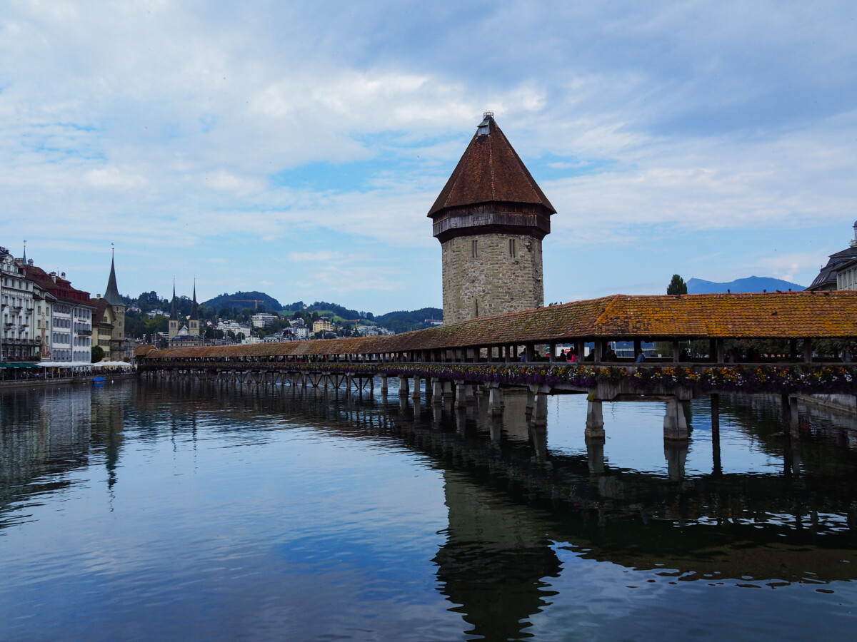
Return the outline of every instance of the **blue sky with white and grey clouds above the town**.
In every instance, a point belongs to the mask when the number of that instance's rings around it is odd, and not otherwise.
[[[441,305],[482,112],[557,213],[545,302],[808,285],[857,218],[857,3],[0,6],[0,245],[103,294]]]

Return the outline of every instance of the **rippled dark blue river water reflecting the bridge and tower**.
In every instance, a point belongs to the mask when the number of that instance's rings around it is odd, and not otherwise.
[[[850,639],[857,427],[502,419],[212,383],[0,392],[0,639]]]

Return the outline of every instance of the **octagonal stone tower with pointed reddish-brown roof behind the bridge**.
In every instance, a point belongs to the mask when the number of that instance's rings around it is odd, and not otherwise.
[[[428,216],[443,253],[443,322],[544,304],[554,206],[486,112]]]

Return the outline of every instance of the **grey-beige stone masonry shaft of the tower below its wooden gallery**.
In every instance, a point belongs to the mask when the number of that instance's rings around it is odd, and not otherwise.
[[[443,243],[442,253],[444,324],[544,304],[542,241],[528,235],[459,236]]]

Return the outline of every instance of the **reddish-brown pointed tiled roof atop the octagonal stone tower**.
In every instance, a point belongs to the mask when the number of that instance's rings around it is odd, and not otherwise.
[[[494,115],[486,112],[428,216],[447,208],[492,202],[542,205],[548,215],[556,213],[554,205],[494,122]]]

